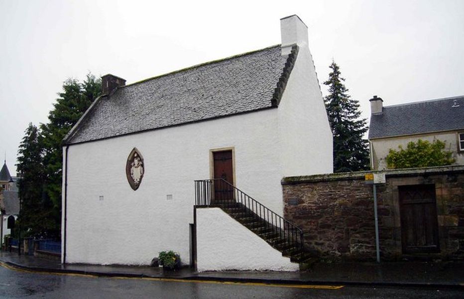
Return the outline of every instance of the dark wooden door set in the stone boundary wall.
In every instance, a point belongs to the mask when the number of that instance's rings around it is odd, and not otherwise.
[[[403,253],[440,251],[435,185],[399,186]]]

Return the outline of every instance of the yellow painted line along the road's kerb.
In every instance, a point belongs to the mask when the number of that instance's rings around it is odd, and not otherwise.
[[[66,276],[77,276],[77,277],[104,277],[109,279],[131,279],[131,280],[147,280],[147,281],[159,281],[159,282],[175,282],[175,283],[198,283],[198,284],[218,284],[218,285],[235,285],[235,286],[254,286],[254,287],[277,287],[277,288],[296,288],[296,289],[323,289],[323,290],[339,290],[345,286],[325,286],[325,285],[288,285],[288,284],[266,284],[266,283],[242,283],[242,282],[223,282],[223,281],[210,281],[210,280],[189,280],[180,278],[154,278],[154,277],[121,277],[121,276],[99,276],[94,274],[79,274],[79,273],[60,273],[60,272],[48,272],[48,271],[32,271],[22,268],[10,266],[0,261],[0,266],[9,270],[25,272],[25,273],[37,273],[47,275],[66,275]]]

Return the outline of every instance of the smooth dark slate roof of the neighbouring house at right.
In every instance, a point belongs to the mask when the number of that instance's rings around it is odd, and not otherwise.
[[[464,96],[385,106],[370,116],[369,139],[464,130]]]

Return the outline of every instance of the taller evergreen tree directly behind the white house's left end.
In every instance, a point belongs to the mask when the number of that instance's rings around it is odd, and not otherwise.
[[[61,225],[62,141],[100,95],[101,90],[101,80],[92,74],[88,74],[83,83],[75,79],[66,80],[63,83],[63,91],[58,94],[59,98],[49,113],[48,124],[40,126],[44,145],[44,190],[52,204],[50,213],[55,219],[53,230],[56,235],[59,235]]]

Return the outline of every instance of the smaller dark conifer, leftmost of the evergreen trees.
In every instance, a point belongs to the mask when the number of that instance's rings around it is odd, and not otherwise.
[[[21,200],[19,221],[23,232],[37,236],[43,235],[52,228],[54,221],[49,214],[50,204],[43,196],[43,145],[41,144],[40,132],[32,123],[29,123],[24,132],[16,164],[20,173],[18,181]]]

